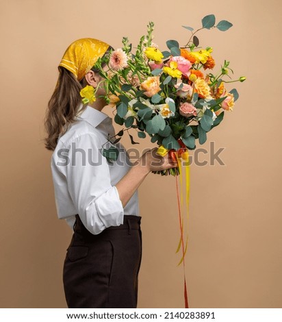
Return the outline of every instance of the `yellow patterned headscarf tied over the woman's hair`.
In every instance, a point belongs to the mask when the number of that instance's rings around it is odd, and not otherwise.
[[[108,48],[109,45],[101,40],[92,38],[76,40],[66,49],[59,66],[71,71],[80,81]]]

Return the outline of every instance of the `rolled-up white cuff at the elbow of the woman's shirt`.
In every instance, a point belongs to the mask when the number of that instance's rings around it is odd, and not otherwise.
[[[118,189],[112,186],[95,201],[97,213],[105,227],[123,224],[124,209]]]

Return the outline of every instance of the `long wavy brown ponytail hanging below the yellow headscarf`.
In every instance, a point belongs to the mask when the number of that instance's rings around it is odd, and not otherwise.
[[[45,147],[54,150],[57,146],[57,139],[60,134],[64,134],[68,125],[75,121],[75,116],[79,110],[81,97],[79,92],[86,84],[86,80],[79,82],[75,75],[59,66],[59,78],[57,86],[48,103],[47,112],[44,119],[44,126],[47,131],[47,138],[44,139]],[[82,108],[84,110],[86,106]]]

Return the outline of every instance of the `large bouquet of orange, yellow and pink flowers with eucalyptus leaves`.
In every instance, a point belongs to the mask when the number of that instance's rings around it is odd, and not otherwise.
[[[160,51],[153,43],[151,22],[134,53],[124,37],[123,48],[110,51],[97,61],[94,68],[103,76],[104,98],[116,108],[114,121],[126,127],[112,142],[117,143],[125,131],[134,128],[139,138],[147,134],[152,143],[157,143],[160,155],[170,153],[175,160],[178,157],[188,160],[188,149],[195,149],[196,140],[201,145],[205,143],[207,132],[220,124],[225,110],[233,110],[238,99],[237,90],[227,90],[225,84],[245,79],[230,79],[233,71],[227,60],[216,75],[211,73],[215,66],[213,50],[198,47],[195,34],[201,29],[214,27],[226,31],[232,26],[228,21],[215,23],[215,16],[210,14],[202,19],[202,27],[196,32],[183,26],[192,33],[187,44],[180,47],[176,40],[168,40],[168,51]],[[229,77],[229,81],[224,77]],[[92,88],[90,92],[87,88],[81,92],[84,103],[93,100],[93,95]],[[136,144],[133,136],[129,136],[131,143]],[[112,146],[103,149],[103,155],[109,161],[116,160],[118,150]],[[158,173],[177,175],[179,168]]]

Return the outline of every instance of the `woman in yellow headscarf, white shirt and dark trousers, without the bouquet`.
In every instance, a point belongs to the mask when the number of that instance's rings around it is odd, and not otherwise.
[[[84,38],[66,49],[45,119],[57,216],[74,231],[63,273],[69,308],[136,308],[142,256],[137,188],[151,171],[177,166],[156,149],[133,164],[120,144],[116,162],[102,155],[114,127],[102,112],[103,79],[92,66],[110,48]],[[86,85],[97,88],[87,106],[79,95]]]

